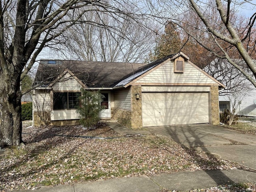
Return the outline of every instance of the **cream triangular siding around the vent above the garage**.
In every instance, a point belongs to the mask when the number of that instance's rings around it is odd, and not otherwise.
[[[156,70],[142,77],[136,83],[190,83],[190,84],[217,84],[210,77],[206,76],[201,69],[195,68],[187,61],[184,62],[184,72],[174,73],[174,61],[166,62]]]

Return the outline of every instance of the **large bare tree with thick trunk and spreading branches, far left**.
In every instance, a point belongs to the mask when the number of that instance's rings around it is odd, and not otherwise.
[[[22,142],[20,81],[46,46],[61,42],[60,35],[84,21],[86,12],[104,12],[116,20],[139,19],[126,11],[124,1],[7,0],[0,4],[0,144]],[[80,10],[80,8],[83,8]],[[69,16],[72,15],[72,18]],[[102,25],[102,24],[99,24]],[[27,92],[30,90],[27,90]]]

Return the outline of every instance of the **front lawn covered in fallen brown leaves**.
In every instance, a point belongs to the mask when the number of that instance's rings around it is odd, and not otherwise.
[[[54,136],[120,137],[104,125],[90,131],[79,126],[31,127],[23,131],[26,146],[0,157],[1,191],[236,166],[161,136],[111,140]]]

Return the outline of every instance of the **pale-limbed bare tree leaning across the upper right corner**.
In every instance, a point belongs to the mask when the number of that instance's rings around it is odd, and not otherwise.
[[[226,2],[226,3],[225,3]],[[208,1],[177,1],[182,4],[183,15],[175,17],[174,22],[178,24],[190,37],[194,38],[201,46],[210,51],[218,58],[225,58],[230,64],[237,68],[256,87],[256,65],[255,57],[255,20],[254,13],[248,20],[239,16],[238,8],[251,1],[237,0],[208,0]],[[186,14],[185,14],[186,13]],[[194,19],[185,20],[184,17],[193,16]],[[194,24],[193,21],[199,20]],[[205,41],[205,39],[208,41]],[[245,70],[234,60],[244,60],[248,70]],[[251,75],[253,74],[253,75]]]

